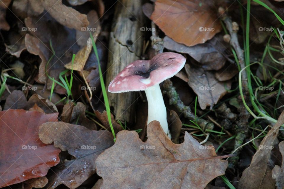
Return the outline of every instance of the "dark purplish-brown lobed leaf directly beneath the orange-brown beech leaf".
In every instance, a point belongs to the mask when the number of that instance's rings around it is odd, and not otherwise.
[[[169,50],[179,53],[187,53],[196,61],[201,63],[204,70],[219,70],[226,62],[223,54],[227,46],[222,39],[222,35],[218,35],[204,44],[188,47],[181,43],[177,43],[169,37],[164,37],[164,46]]]

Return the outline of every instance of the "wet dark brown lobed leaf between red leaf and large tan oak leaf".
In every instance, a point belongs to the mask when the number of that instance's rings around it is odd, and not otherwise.
[[[39,128],[39,138],[45,144],[68,151],[76,159],[65,160],[52,168],[47,188],[53,189],[60,184],[74,189],[96,172],[95,160],[105,149],[113,145],[110,132],[94,131],[80,125],[64,122],[44,123]]]

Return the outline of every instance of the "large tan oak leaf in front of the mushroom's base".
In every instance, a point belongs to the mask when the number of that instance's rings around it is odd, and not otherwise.
[[[115,144],[97,159],[97,174],[104,188],[195,188],[203,189],[215,177],[224,175],[227,161],[214,149],[201,148],[185,132],[185,142],[174,144],[158,121],[147,127],[142,142],[135,131],[120,131]],[[115,154],[115,155],[114,155]]]

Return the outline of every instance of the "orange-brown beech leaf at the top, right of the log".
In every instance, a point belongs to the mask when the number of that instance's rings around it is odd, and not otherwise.
[[[221,31],[216,12],[214,1],[157,0],[151,19],[176,42],[193,46]]]

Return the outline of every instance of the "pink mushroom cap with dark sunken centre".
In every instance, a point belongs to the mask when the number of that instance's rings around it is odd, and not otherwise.
[[[186,59],[178,53],[160,53],[151,60],[137,60],[125,67],[109,83],[112,93],[142,91],[177,74]]]

